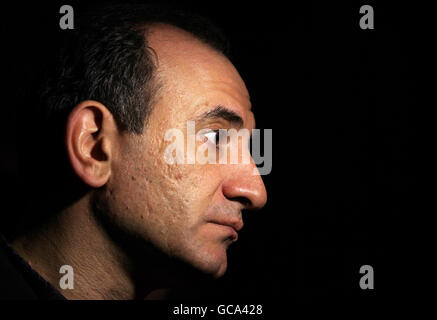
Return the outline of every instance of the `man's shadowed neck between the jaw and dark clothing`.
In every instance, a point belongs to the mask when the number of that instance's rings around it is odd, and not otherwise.
[[[138,290],[132,260],[97,221],[89,201],[89,195],[83,197],[12,247],[67,299],[134,299],[138,292],[145,298],[155,288]],[[74,289],[60,287],[63,265],[73,268]]]

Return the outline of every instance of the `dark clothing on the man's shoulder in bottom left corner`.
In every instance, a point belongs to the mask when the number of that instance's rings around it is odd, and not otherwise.
[[[0,235],[0,300],[65,300]]]

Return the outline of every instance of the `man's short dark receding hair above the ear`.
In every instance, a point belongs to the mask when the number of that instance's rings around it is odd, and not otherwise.
[[[65,37],[59,63],[42,94],[47,114],[59,121],[81,101],[97,100],[120,129],[141,133],[157,89],[155,55],[146,35],[153,23],[184,29],[228,56],[228,41],[221,30],[198,14],[156,4],[92,8]]]

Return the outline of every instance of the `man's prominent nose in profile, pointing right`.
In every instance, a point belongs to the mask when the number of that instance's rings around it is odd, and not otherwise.
[[[243,209],[259,210],[267,202],[267,191],[255,164],[234,165],[222,185],[223,195],[243,205]],[[258,170],[256,170],[258,172]]]

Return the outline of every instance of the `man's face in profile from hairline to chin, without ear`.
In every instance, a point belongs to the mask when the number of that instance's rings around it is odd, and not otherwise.
[[[158,56],[162,89],[144,132],[121,138],[106,188],[108,214],[165,254],[219,277],[226,270],[226,249],[243,225],[241,210],[266,202],[264,184],[253,174],[253,161],[169,164],[164,152],[170,142],[164,136],[176,128],[190,138],[189,120],[196,120],[196,132],[251,130],[255,122],[249,94],[234,66],[188,33],[157,25],[148,38]],[[199,120],[217,106],[241,117],[242,123],[220,114]]]

